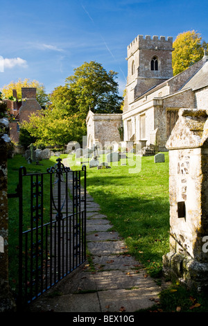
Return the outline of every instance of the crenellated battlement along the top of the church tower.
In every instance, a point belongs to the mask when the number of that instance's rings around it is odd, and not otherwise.
[[[134,53],[137,49],[158,49],[158,50],[173,50],[173,37],[165,36],[158,37],[154,35],[153,38],[150,35],[137,35],[135,40],[127,47],[128,57]]]

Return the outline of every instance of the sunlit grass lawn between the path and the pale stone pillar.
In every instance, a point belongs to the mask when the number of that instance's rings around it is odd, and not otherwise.
[[[111,163],[111,169],[87,169],[87,191],[125,239],[130,254],[155,277],[169,251],[168,153],[164,163],[155,164],[153,156],[134,159],[128,154],[128,160]],[[106,162],[105,157],[99,161]]]

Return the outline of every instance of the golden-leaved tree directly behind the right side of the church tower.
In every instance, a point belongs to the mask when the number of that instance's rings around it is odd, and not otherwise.
[[[202,37],[196,31],[177,35],[173,42],[173,76],[201,60],[205,47],[207,44],[202,42]]]

